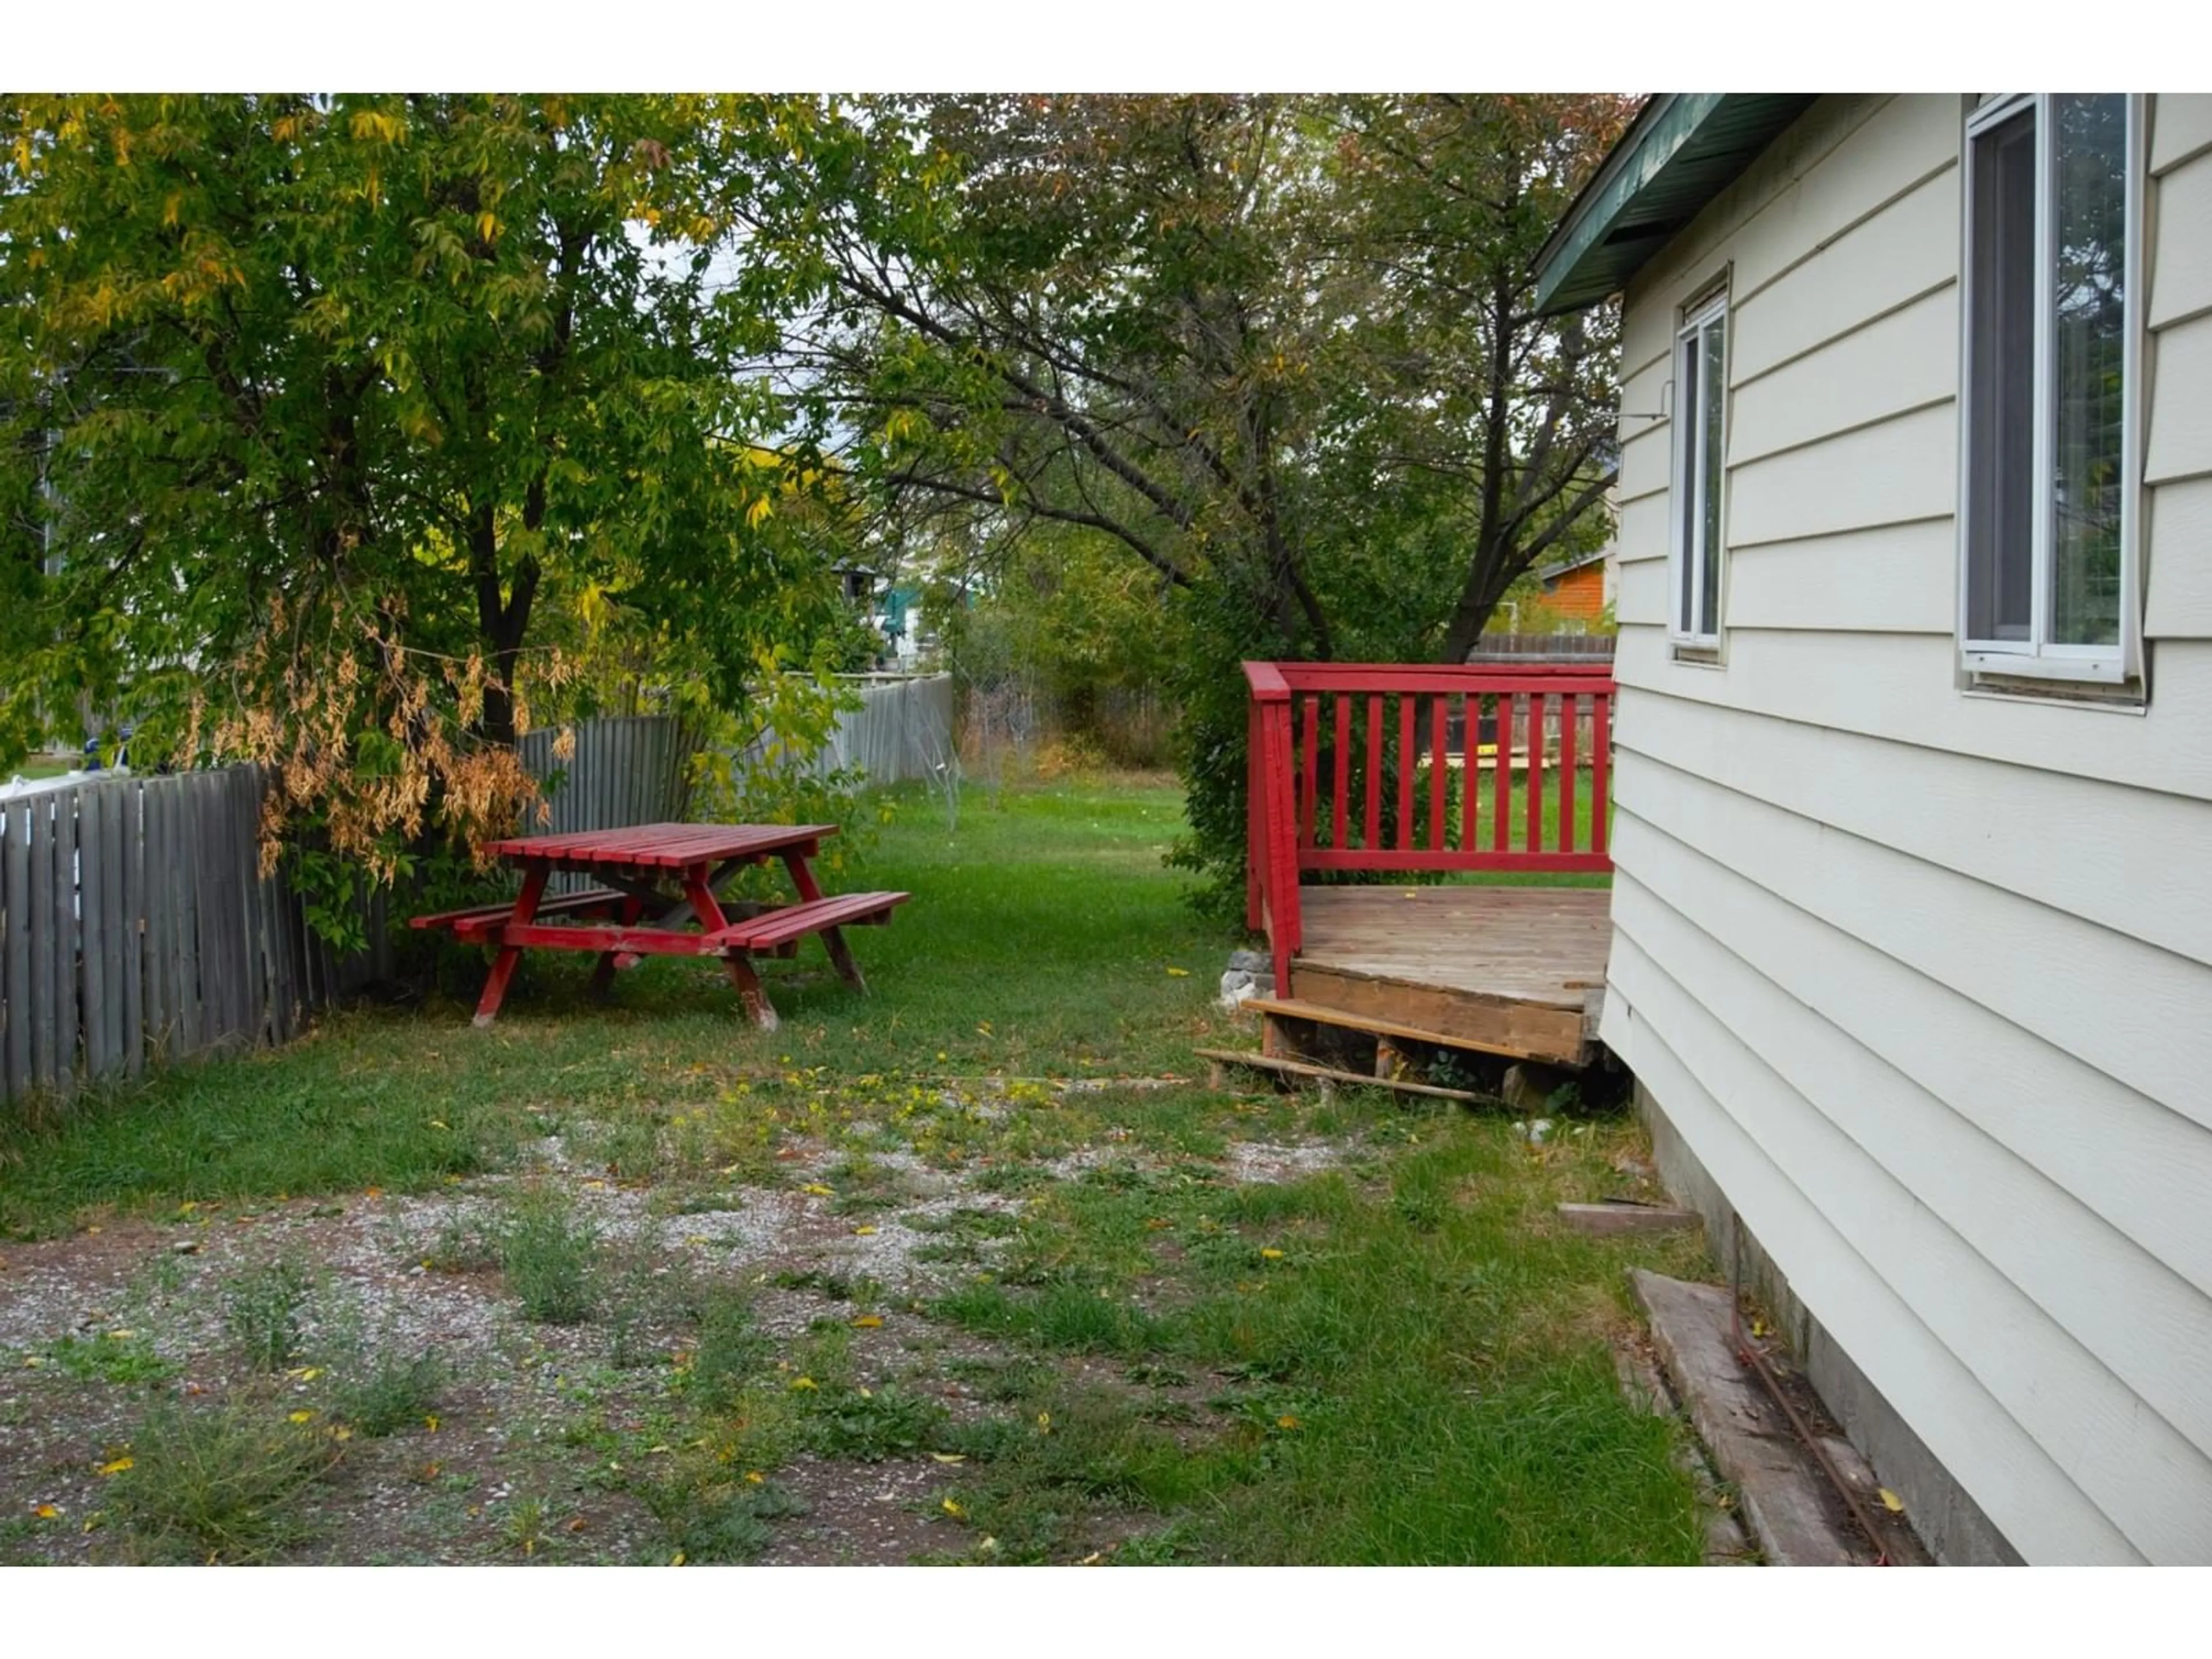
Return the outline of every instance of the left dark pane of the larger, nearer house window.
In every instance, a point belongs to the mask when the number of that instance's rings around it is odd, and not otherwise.
[[[1973,142],[1966,637],[2026,639],[2035,555],[2035,113]]]

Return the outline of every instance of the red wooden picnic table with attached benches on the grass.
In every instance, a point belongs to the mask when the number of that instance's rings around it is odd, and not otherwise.
[[[491,978],[476,1004],[476,1024],[489,1026],[507,998],[507,982],[524,947],[593,951],[591,989],[604,993],[615,969],[644,956],[719,956],[752,1022],[774,1031],[776,1011],[752,967],[754,953],[794,956],[799,940],[821,933],[838,978],[865,991],[860,967],[845,945],[845,927],[883,925],[911,894],[838,894],[825,898],[807,860],[821,852],[834,823],[641,823],[630,830],[591,830],[568,836],[493,841],[487,854],[518,865],[522,891],[513,905],[416,916],[414,927],[449,927],[453,938],[495,945]],[[799,894],[796,905],[723,900],[719,889],[745,865],[781,858]],[[546,898],[553,872],[580,872],[602,885]],[[546,920],[557,916],[562,920]]]

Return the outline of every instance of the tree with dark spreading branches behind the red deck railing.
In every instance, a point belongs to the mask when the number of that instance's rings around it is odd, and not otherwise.
[[[1601,533],[1615,341],[1533,312],[1613,97],[821,102],[726,168],[900,522],[1108,538],[1183,644],[1234,894],[1241,657],[1460,659]],[[768,133],[752,126],[748,131]]]

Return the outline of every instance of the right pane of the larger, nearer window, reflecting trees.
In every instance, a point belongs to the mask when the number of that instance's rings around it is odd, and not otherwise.
[[[2055,93],[2051,639],[2119,644],[2128,100]]]

